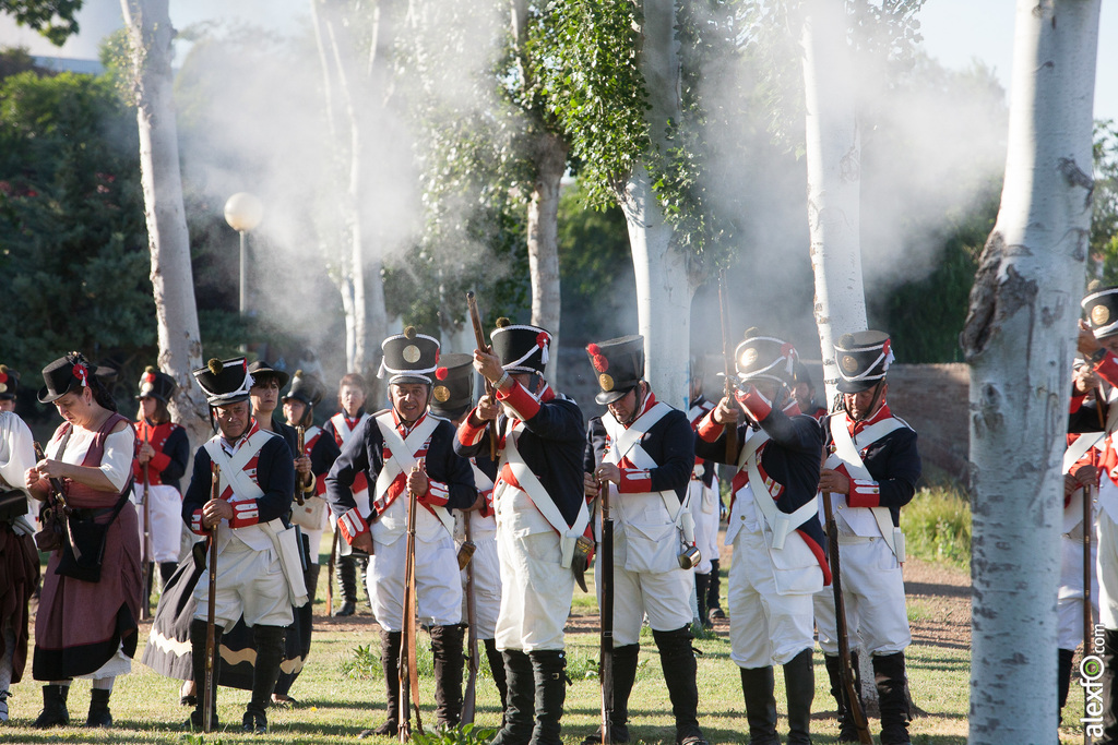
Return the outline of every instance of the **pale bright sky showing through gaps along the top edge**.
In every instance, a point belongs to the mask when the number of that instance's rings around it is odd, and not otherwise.
[[[171,0],[178,28],[206,20],[241,20],[292,31],[306,21],[307,0]],[[982,60],[1010,89],[1013,21],[1016,0],[927,0],[919,18],[927,52],[950,68]],[[1099,38],[1118,38],[1118,8],[1103,2]],[[23,45],[32,55],[96,59],[101,38],[121,26],[119,0],[86,0],[79,16],[82,34],[59,50],[42,37],[0,17],[0,46]],[[1099,45],[1095,117],[1118,120],[1118,46]]]

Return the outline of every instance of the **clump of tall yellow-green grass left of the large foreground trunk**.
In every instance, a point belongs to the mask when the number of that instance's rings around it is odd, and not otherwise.
[[[901,509],[910,556],[970,566],[970,504],[957,488],[920,489]]]

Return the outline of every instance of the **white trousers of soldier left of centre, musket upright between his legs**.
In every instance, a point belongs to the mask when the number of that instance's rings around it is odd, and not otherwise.
[[[373,541],[369,558],[369,598],[372,614],[385,631],[401,631],[404,622],[404,571],[408,554],[407,536],[390,544]],[[454,541],[445,529],[433,539],[416,536],[416,605],[425,625],[453,625],[462,622],[462,583]]]

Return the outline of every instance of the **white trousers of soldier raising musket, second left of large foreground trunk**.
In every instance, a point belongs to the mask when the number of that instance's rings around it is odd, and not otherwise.
[[[787,541],[803,542],[798,533]],[[787,543],[785,544],[787,550]],[[805,546],[806,550],[806,546]],[[819,572],[818,565],[815,567]],[[765,536],[739,531],[728,581],[730,659],[742,668],[784,665],[813,643],[811,591],[777,592]],[[804,583],[811,585],[812,583]]]

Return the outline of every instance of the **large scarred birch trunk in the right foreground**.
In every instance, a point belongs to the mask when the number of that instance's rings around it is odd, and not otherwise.
[[[1057,730],[1061,460],[1091,218],[1098,20],[1099,0],[1017,0],[1005,185],[960,337],[972,745],[1049,743]]]

